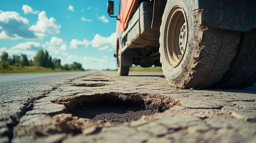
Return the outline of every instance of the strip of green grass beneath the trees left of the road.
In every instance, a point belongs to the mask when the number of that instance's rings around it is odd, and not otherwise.
[[[0,73],[44,73],[44,72],[68,72],[67,70],[62,69],[51,69],[38,66],[9,66],[8,70],[0,69]]]

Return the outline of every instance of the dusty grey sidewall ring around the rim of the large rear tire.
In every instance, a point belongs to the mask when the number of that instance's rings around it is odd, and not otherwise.
[[[183,10],[186,13],[187,17],[187,23],[188,23],[188,38],[187,38],[187,46],[185,53],[183,55],[182,61],[176,66],[175,68],[171,67],[169,63],[166,60],[166,55],[165,55],[165,48],[164,48],[164,32],[165,32],[165,27],[166,27],[166,22],[167,22],[167,17],[172,10],[174,6],[180,6],[183,8]],[[192,4],[191,1],[187,0],[169,0],[167,1],[163,18],[162,18],[162,24],[160,28],[160,53],[161,53],[161,61],[162,61],[162,67],[164,74],[166,78],[169,80],[170,83],[174,83],[175,85],[181,84],[181,82],[184,82],[184,78],[186,77],[185,75],[189,75],[191,71],[191,62],[193,61],[193,48],[194,46],[189,46],[191,43],[191,39],[194,38],[193,36],[193,27],[194,27],[194,22],[193,22],[193,13],[192,13]]]

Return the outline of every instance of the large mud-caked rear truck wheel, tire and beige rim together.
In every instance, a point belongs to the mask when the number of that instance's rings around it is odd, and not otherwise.
[[[202,26],[202,10],[192,8],[191,1],[168,0],[162,17],[160,60],[175,88],[209,88],[220,81],[240,40],[237,32]]]

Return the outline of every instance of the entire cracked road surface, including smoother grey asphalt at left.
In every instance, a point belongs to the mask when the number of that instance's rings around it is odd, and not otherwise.
[[[255,142],[255,87],[181,90],[168,87],[162,73],[129,75],[103,71],[0,75],[0,142]],[[164,104],[172,106],[125,123],[94,121],[69,112],[73,101],[83,104],[81,99],[115,94],[124,100],[140,95],[154,105],[162,105],[163,97],[168,97],[172,102]],[[151,100],[153,95],[159,98]]]

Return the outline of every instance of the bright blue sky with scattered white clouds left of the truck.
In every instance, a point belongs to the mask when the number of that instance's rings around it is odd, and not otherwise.
[[[117,6],[118,0],[114,15]],[[61,64],[76,61],[86,69],[114,69],[115,26],[105,0],[1,1],[0,53],[32,58],[45,49]]]

